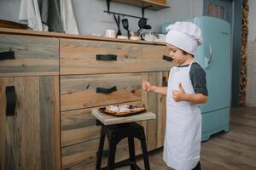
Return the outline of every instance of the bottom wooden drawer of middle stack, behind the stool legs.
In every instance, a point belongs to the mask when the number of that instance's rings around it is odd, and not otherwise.
[[[140,142],[135,141],[136,155],[142,153]],[[90,140],[80,144],[73,144],[61,148],[62,169],[86,169],[95,170],[96,151],[98,150],[99,139]],[[104,150],[108,150],[108,139],[105,138]],[[123,139],[117,145],[115,162],[124,161],[129,158],[128,140]],[[107,166],[108,152],[103,152],[102,167]]]

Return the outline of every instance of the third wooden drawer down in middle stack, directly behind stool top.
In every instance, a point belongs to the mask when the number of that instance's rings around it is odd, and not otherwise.
[[[125,103],[141,105],[140,101]],[[97,108],[63,111],[61,112],[61,146],[79,144],[81,142],[98,139],[100,126],[96,126],[96,118],[91,110]]]

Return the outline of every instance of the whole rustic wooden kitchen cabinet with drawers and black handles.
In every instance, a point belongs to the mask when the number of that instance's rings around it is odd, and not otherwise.
[[[156,113],[156,120],[138,123],[148,150],[163,146],[166,98],[143,92],[142,81],[166,84],[173,62],[164,55],[160,42],[0,28],[0,169],[95,169],[100,127],[90,111],[105,105],[144,105]],[[6,114],[6,87],[15,87],[14,116]],[[138,140],[135,147],[140,155]],[[128,158],[124,140],[115,161]]]

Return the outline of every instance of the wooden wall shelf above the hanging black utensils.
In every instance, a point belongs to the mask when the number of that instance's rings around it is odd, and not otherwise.
[[[149,0],[111,0],[111,2],[117,2],[117,3],[125,3],[137,7],[147,7],[151,5],[152,7],[149,7],[148,9],[152,10],[160,10],[163,8],[169,8],[166,4],[163,3],[155,3]]]

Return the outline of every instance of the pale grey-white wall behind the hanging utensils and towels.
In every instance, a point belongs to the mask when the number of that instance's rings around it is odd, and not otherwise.
[[[151,31],[160,31],[160,26],[173,20],[184,20],[202,15],[203,0],[167,0],[171,8],[159,11],[145,10]],[[80,34],[104,34],[107,28],[116,28],[112,14],[107,10],[106,0],[73,0],[74,13]],[[0,19],[18,21],[20,0],[0,0]],[[119,13],[142,16],[141,8],[123,3],[110,3],[110,10]],[[122,18],[122,17],[121,17]],[[137,31],[138,19],[128,18],[131,31]],[[122,28],[122,32],[125,30]]]

